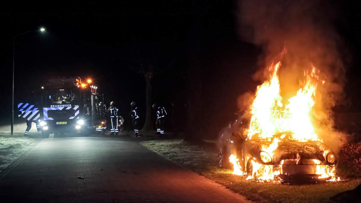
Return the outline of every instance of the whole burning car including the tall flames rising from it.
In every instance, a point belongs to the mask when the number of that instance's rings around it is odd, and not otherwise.
[[[313,68],[296,95],[282,103],[277,71],[257,87],[250,119],[239,118],[218,141],[219,167],[262,182],[308,183],[336,180],[336,157],[315,133],[311,116],[318,77]],[[322,84],[324,81],[321,81]]]

